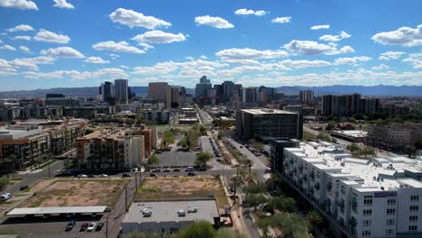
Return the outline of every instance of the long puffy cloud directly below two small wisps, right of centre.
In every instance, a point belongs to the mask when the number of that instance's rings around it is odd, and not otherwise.
[[[354,52],[353,48],[350,46],[344,46],[343,48],[338,50],[337,45],[333,42],[329,42],[328,44],[320,44],[316,41],[293,40],[285,44],[283,48],[293,53],[298,53],[302,55],[335,55]]]

